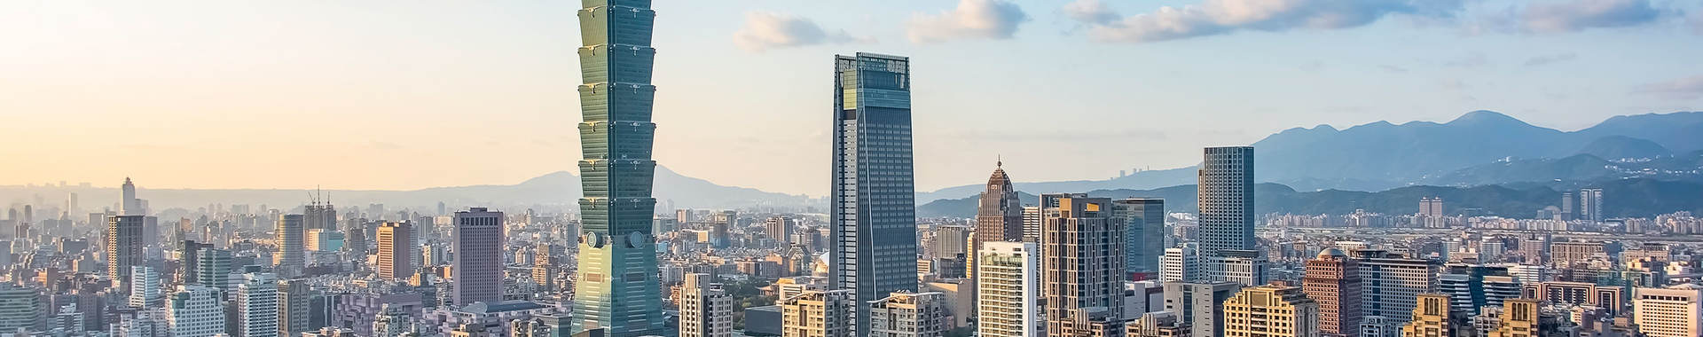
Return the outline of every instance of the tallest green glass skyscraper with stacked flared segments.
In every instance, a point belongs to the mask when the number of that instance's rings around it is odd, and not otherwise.
[[[662,335],[656,240],[651,233],[651,0],[582,0],[579,277],[574,332],[606,328],[610,337]]]

